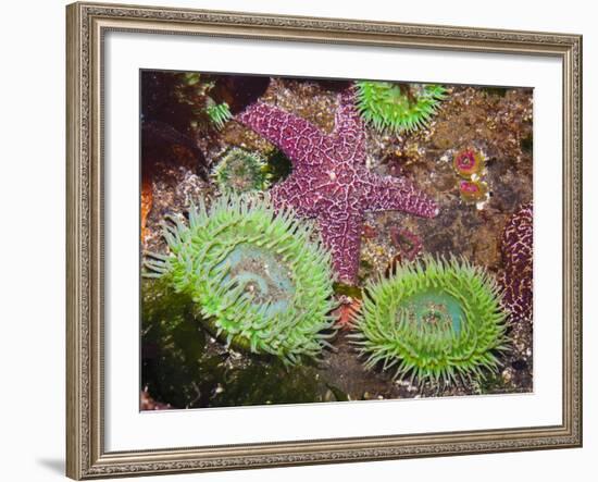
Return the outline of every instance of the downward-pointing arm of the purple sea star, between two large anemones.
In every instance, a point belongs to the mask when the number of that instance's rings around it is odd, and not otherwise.
[[[324,245],[331,250],[333,268],[341,283],[356,284],[359,271],[361,249],[361,230],[363,215],[361,213],[323,213],[317,218],[317,224],[324,239]]]

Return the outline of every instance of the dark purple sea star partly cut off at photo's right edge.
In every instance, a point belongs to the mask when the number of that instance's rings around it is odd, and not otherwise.
[[[533,206],[523,206],[507,223],[502,235],[504,270],[499,275],[504,306],[511,319],[531,321],[533,314]]]

